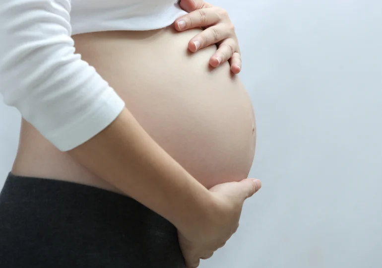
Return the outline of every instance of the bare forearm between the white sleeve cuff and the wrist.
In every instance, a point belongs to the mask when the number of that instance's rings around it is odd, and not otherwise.
[[[106,129],[68,153],[178,228],[205,216],[208,190],[167,154],[126,108]]]

